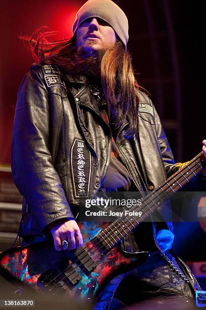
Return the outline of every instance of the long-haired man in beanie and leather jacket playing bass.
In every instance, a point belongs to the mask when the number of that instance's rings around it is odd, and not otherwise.
[[[30,45],[39,63],[20,86],[12,140],[12,172],[24,197],[20,235],[28,243],[52,235],[56,250],[71,250],[83,243],[75,221],[82,195],[143,194],[180,164],[174,164],[158,113],[134,78],[126,51],[128,20],[115,3],[87,1],[69,41],[47,45],[43,34],[35,35]],[[126,304],[158,297],[161,305],[166,294],[186,303],[200,289],[170,251],[170,207],[159,208],[155,218],[121,242],[125,254],[150,257],[117,278],[110,297],[100,294],[97,305],[109,306],[123,278],[116,297]],[[130,292],[122,294],[128,284]]]

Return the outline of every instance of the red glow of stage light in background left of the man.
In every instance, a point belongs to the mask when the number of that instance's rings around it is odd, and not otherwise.
[[[1,81],[0,94],[0,164],[10,164],[17,91],[25,72],[34,62],[18,35],[31,35],[40,26],[48,26],[48,31],[63,33],[63,37],[60,35],[57,40],[69,38],[76,13],[85,2],[86,0],[21,0],[4,2],[4,10],[1,7],[5,30],[2,32],[4,44],[1,47],[4,55],[1,60],[4,79]],[[11,72],[14,73],[12,79]]]

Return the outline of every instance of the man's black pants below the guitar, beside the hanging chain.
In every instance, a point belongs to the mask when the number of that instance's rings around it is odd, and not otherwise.
[[[166,254],[185,275],[174,256],[169,251]],[[116,289],[109,310],[120,309],[135,303],[141,303],[139,309],[143,309],[145,304],[150,309],[160,307],[178,310],[179,306],[181,309],[189,309],[190,306],[195,306],[195,290],[201,290],[194,277],[193,288],[183,280],[160,255],[160,252],[152,253],[144,263],[122,276],[123,280]],[[135,309],[137,308],[136,305]]]

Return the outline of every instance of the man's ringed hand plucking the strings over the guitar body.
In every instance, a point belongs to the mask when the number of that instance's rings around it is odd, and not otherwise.
[[[82,235],[75,220],[61,218],[48,224],[48,229],[54,238],[55,249],[61,251],[62,241],[68,241],[68,250],[78,249],[82,244]]]

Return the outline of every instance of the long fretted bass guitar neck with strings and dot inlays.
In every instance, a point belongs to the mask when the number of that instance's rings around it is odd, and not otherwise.
[[[128,211],[131,212],[129,217],[119,218],[112,222],[107,228],[98,234],[98,239],[104,244],[106,250],[113,248],[123,237],[127,236],[138,224],[144,221],[149,215],[161,206],[175,192],[187,184],[201,170],[205,157],[200,152],[190,162],[185,164],[180,170],[168,178],[156,190],[150,192],[141,203],[141,206],[135,205]],[[133,216],[137,212],[140,216]],[[140,212],[140,213],[139,213]]]

